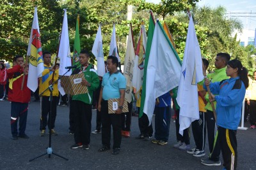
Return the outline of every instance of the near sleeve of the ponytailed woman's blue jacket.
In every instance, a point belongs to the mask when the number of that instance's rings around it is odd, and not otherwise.
[[[241,100],[244,99],[245,87],[241,89],[233,89],[228,93],[228,96],[215,96],[215,100],[220,106],[236,106],[238,103],[241,103]]]

